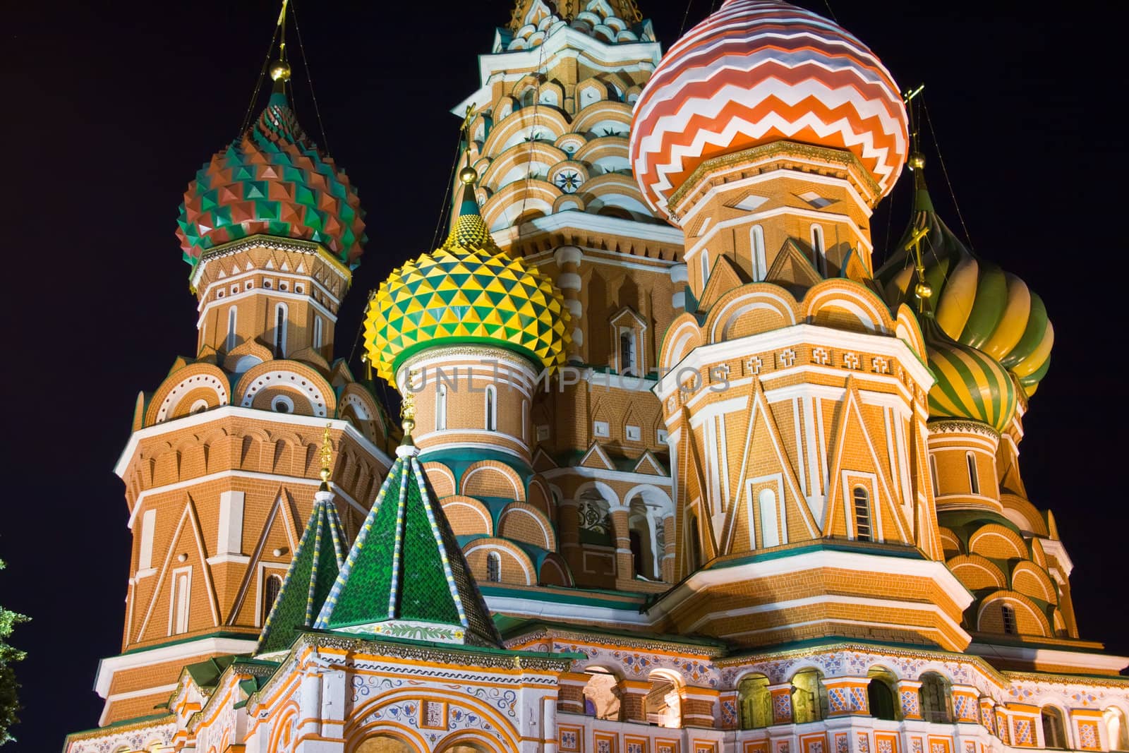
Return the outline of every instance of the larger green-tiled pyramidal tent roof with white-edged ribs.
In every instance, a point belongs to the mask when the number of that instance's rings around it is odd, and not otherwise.
[[[431,491],[400,447],[315,628],[498,647],[501,638]]]

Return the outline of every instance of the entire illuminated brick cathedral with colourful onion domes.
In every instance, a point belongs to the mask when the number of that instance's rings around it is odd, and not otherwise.
[[[1129,750],[1019,473],[1053,330],[877,56],[777,0],[665,56],[632,0],[522,0],[480,69],[449,235],[369,298],[399,426],[332,356],[364,212],[285,63],[190,184],[198,353],[138,400],[67,751]]]

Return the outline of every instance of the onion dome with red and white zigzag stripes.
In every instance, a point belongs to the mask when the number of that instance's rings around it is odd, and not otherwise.
[[[779,0],[727,0],[655,69],[634,111],[631,165],[665,212],[701,163],[788,139],[850,150],[885,195],[905,159],[907,120],[898,85],[852,34]]]

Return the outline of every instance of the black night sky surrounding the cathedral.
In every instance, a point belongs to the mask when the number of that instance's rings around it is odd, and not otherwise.
[[[426,251],[458,121],[508,0],[298,3],[331,154],[360,186],[369,242],[342,309],[347,356],[365,291]],[[689,24],[711,0],[692,0]],[[1032,400],[1022,467],[1075,562],[1084,637],[1129,654],[1123,628],[1127,462],[1114,366],[1124,361],[1126,146],[1112,105],[1123,27],[1111,7],[982,0],[830,0],[903,86],[925,81],[953,191],[982,256],[1045,300],[1056,344]],[[684,0],[639,0],[664,47]],[[804,2],[826,14],[822,0]],[[414,16],[412,12],[414,11]],[[0,604],[34,622],[20,742],[53,751],[97,721],[99,657],[121,647],[130,539],[113,465],[139,389],[195,347],[195,299],[173,233],[189,180],[236,135],[275,2],[6,3],[0,25],[0,253],[7,261]],[[1102,18],[1104,20],[1095,20]],[[318,134],[291,32],[296,110]],[[1122,45],[1123,46],[1123,45]],[[262,106],[260,102],[256,107]],[[318,137],[318,141],[322,139]],[[961,233],[929,147],[939,211]],[[908,220],[908,181],[879,208],[876,247]],[[879,252],[878,259],[884,256]]]

